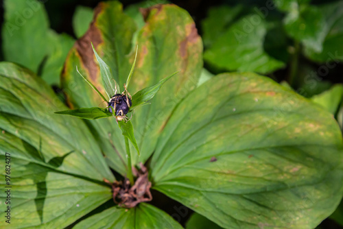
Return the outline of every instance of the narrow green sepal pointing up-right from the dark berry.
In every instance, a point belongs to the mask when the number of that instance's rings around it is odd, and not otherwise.
[[[134,110],[141,104],[144,104],[145,102],[152,99],[156,93],[160,90],[161,86],[167,82],[172,76],[176,75],[179,72],[173,73],[169,75],[168,77],[165,77],[164,79],[160,80],[157,84],[154,86],[149,86],[147,88],[143,88],[141,91],[137,92],[132,96],[132,106],[130,106],[130,110]]]

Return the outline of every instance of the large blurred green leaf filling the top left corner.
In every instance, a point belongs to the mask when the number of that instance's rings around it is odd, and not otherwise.
[[[43,3],[36,0],[5,0],[4,9],[4,59],[37,73],[49,45],[49,20]]]

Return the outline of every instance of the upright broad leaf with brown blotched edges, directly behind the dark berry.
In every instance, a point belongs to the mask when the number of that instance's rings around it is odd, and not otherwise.
[[[127,80],[138,45],[137,63],[130,80],[131,95],[180,71],[165,82],[149,106],[134,113],[132,125],[141,156],[132,154],[132,162],[137,165],[154,152],[165,121],[178,101],[197,86],[202,69],[201,39],[191,16],[176,5],[156,5],[146,9],[146,22],[138,31],[134,20],[122,12],[121,3],[117,1],[100,3],[95,12],[94,23],[71,49],[62,75],[62,87],[69,91],[70,104],[76,108],[89,108],[102,103],[88,85],[80,82],[82,79],[75,71],[75,66],[80,67],[80,73],[104,92],[93,51],[85,45],[91,41],[100,58],[113,70],[113,77],[119,85]],[[88,124],[106,154],[108,165],[125,175],[125,143],[116,121],[99,119]],[[131,151],[134,150],[132,147]]]

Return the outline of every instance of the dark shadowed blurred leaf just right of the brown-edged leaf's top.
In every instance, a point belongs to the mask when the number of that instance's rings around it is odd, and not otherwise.
[[[221,5],[210,8],[206,19],[201,22],[204,47],[211,47],[215,40],[223,36],[226,29],[242,12],[244,12],[243,5],[236,5],[235,7]]]

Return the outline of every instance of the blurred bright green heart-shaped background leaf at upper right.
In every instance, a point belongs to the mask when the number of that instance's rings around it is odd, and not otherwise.
[[[254,20],[259,23],[252,24]],[[270,56],[263,47],[268,29],[274,26],[270,27],[259,14],[244,16],[204,52],[204,60],[216,69],[227,71],[270,73],[281,69],[285,62]]]

